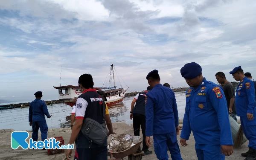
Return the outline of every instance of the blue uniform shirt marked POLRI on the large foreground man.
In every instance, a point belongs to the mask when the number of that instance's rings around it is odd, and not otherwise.
[[[196,144],[233,145],[227,101],[217,84],[205,78],[197,88],[186,91],[186,109],[180,138],[189,140],[193,131]]]

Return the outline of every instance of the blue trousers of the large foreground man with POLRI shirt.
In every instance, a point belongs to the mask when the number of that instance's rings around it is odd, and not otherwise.
[[[198,160],[225,160],[225,154],[221,153],[220,145],[195,144]]]

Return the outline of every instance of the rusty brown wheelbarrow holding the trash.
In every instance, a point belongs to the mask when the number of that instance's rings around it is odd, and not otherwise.
[[[111,158],[108,160],[123,160],[123,158],[126,156],[128,156],[128,160],[141,160],[142,154],[144,153],[144,151],[140,149],[140,145],[142,141],[143,141],[143,138],[140,138],[140,141],[137,144],[125,149],[124,151],[120,151],[120,152],[108,151],[108,156]]]

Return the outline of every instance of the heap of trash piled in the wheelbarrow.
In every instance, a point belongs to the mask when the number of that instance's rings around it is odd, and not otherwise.
[[[108,151],[120,152],[139,143],[140,136],[131,136],[130,134],[121,134],[118,137],[111,137],[108,143]]]

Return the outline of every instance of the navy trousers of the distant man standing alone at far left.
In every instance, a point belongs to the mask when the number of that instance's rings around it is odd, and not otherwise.
[[[41,131],[41,140],[44,142],[47,139],[48,126],[46,120],[32,122],[32,139],[38,141],[38,129]]]

